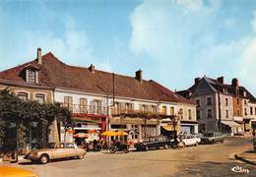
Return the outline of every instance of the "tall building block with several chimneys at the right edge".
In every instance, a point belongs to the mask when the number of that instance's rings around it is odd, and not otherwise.
[[[178,93],[196,102],[200,132],[237,134],[251,130],[255,98],[247,89],[239,86],[237,79],[226,85],[224,77],[217,80],[196,78],[191,88]]]

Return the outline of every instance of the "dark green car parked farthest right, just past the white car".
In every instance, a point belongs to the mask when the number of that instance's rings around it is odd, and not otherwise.
[[[202,144],[224,143],[224,137],[225,136],[219,132],[208,132],[201,138],[201,142]]]

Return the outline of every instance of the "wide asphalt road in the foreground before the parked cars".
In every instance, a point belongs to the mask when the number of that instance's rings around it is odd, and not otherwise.
[[[182,149],[131,151],[130,153],[89,152],[82,159],[58,160],[46,165],[21,161],[12,164],[29,169],[40,177],[152,177],[152,176],[256,176],[256,166],[237,161],[234,153],[252,148],[251,138],[228,138],[224,144]],[[248,174],[231,171],[234,166]]]

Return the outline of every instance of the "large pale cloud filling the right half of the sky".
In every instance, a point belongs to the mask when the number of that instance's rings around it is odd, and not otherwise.
[[[231,16],[220,15],[222,2],[210,0],[145,0],[130,16],[130,50],[153,58],[160,79],[170,88],[188,87],[195,77],[237,77],[256,93],[255,37],[246,34],[222,39],[223,28],[235,30]],[[251,30],[256,31],[256,13]],[[180,82],[183,81],[181,84]],[[229,83],[229,82],[228,82]],[[243,83],[243,82],[241,82]]]

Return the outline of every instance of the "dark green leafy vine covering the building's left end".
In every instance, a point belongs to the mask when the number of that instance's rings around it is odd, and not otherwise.
[[[15,123],[18,126],[19,147],[25,146],[25,130],[32,122],[46,126],[51,125],[54,119],[63,124],[72,122],[71,112],[58,103],[38,103],[37,101],[23,101],[8,89],[0,91],[0,148],[5,140],[8,125]]]

